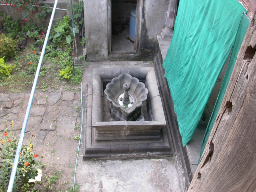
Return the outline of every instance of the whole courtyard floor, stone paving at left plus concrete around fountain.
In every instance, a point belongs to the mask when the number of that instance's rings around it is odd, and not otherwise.
[[[92,82],[92,68],[109,67],[153,67],[152,62],[92,62],[84,67],[82,91]],[[30,111],[24,143],[33,133],[34,151],[45,166],[43,176],[54,169],[63,170],[62,179],[57,185],[73,185],[73,172],[80,134],[81,101],[80,91],[36,90]],[[0,131],[4,131],[11,121],[13,130],[20,132],[30,93],[0,94]],[[84,100],[84,99],[83,99]],[[86,110],[85,108],[83,109]],[[84,138],[82,138],[83,140]],[[182,191],[176,164],[176,157],[154,156],[129,159],[90,159],[83,161],[83,145],[79,151],[76,171],[76,183],[83,192]],[[44,185],[44,183],[43,183]]]

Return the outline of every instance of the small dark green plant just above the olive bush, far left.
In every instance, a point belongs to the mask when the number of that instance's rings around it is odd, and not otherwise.
[[[20,31],[19,23],[17,21],[13,21],[10,15],[4,15],[2,21],[4,22],[4,30],[6,32],[6,35],[11,38],[15,38]]]

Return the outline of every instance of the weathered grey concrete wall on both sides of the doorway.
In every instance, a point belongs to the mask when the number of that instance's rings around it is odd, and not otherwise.
[[[108,13],[107,4],[109,1],[84,0],[84,26],[88,61],[109,60],[112,56],[109,55],[108,57],[108,33],[110,33],[110,30],[108,31],[108,16],[110,13]],[[158,52],[156,34],[165,27],[169,0],[138,0],[137,2],[139,2],[137,6],[137,17],[139,18],[137,20],[136,58],[137,60],[153,60]],[[124,56],[125,54],[118,54],[115,57],[124,60]]]

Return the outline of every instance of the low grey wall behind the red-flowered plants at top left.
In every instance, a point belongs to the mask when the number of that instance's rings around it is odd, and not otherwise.
[[[37,5],[44,6],[44,4],[47,3],[48,5],[50,5],[50,7],[53,7],[54,2],[55,2],[55,0],[39,1]],[[71,16],[70,2],[68,2],[67,0],[58,0],[57,8],[67,9],[68,11],[56,10],[54,18],[53,18],[54,25],[56,24],[58,18],[62,19],[67,14]],[[11,15],[12,20],[18,21],[21,25],[26,25],[26,22],[22,19],[22,12],[24,10],[25,10],[24,7],[20,7],[20,10],[18,10],[17,6],[13,7],[12,5],[3,5],[2,7],[0,7],[0,11],[2,14],[5,13],[6,15]],[[41,9],[39,7],[36,7],[36,9],[33,11],[33,14],[32,14],[32,17],[36,21],[39,21],[38,19],[36,19],[36,14],[38,12],[41,12]],[[51,15],[52,15],[52,13],[47,13],[44,20],[40,21],[43,24],[43,26],[45,26],[45,27],[48,26]],[[0,16],[0,26],[2,25],[2,23],[1,23],[2,18],[3,18],[3,16]],[[30,16],[28,16],[27,19],[28,19],[28,21],[30,21],[31,20]]]

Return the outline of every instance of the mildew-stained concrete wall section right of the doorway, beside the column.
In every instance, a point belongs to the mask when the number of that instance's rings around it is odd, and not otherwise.
[[[156,57],[158,52],[157,33],[165,27],[165,18],[169,0],[143,0],[139,57],[150,59]]]

